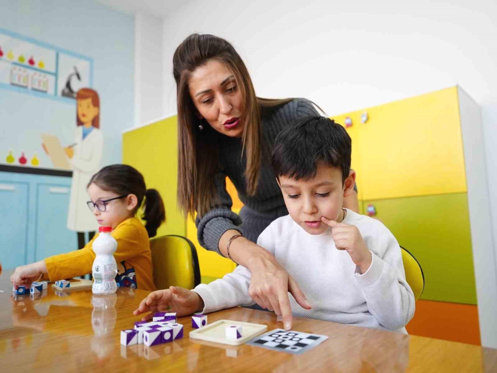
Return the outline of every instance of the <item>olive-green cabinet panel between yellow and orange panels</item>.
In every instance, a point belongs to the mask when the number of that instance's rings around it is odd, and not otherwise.
[[[364,200],[421,264],[421,299],[476,304],[466,193]]]

